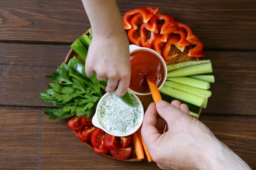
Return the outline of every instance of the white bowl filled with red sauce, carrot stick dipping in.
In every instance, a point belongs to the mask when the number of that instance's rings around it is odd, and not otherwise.
[[[150,73],[158,89],[160,89],[167,78],[167,66],[163,57],[156,51],[130,45],[131,80],[128,91],[138,95],[151,94],[146,76]]]

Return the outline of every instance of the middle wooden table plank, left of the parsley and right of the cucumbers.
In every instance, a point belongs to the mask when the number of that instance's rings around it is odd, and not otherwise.
[[[12,45],[9,45],[9,47]],[[62,54],[67,54],[65,48],[50,50],[46,53],[46,63],[43,59],[38,59],[36,45],[29,51],[29,46],[25,45],[23,52],[18,52],[22,46],[17,45],[17,51],[0,51],[0,105],[2,106],[25,106],[25,107],[52,107],[52,104],[41,101],[38,98],[38,91],[47,88],[50,80],[44,78],[56,71],[55,67],[64,61]],[[39,45],[42,51],[47,51],[51,45]],[[8,48],[9,48],[8,47]],[[64,48],[64,49],[62,49]],[[62,49],[61,51],[57,51]],[[58,54],[55,54],[58,53]],[[6,55],[5,55],[6,54]],[[44,53],[38,53],[44,57]],[[254,52],[234,52],[234,51],[206,51],[207,58],[211,59],[213,65],[213,75],[215,83],[211,84],[212,96],[209,99],[207,109],[203,113],[217,114],[239,114],[256,115],[256,53]],[[27,56],[30,56],[27,58]],[[56,57],[56,58],[55,58]],[[22,65],[19,65],[22,64]],[[38,65],[36,67],[32,65]],[[46,65],[47,67],[44,67]],[[33,99],[32,99],[33,98]],[[152,102],[150,97],[145,99],[145,105]],[[216,107],[218,106],[218,107]]]

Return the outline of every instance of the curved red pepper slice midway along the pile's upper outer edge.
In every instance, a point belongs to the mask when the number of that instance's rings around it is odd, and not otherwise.
[[[172,17],[164,14],[155,14],[154,16],[157,17],[158,20],[165,21],[163,27],[161,28],[160,34],[168,34],[177,29],[177,26],[175,26],[175,21]]]

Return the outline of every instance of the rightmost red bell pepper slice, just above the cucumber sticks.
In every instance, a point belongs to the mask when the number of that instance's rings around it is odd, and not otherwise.
[[[193,45],[196,45],[194,48],[189,50],[189,57],[205,57],[205,54],[203,53],[204,50],[204,44],[201,40],[198,39],[193,33],[192,30],[189,28],[189,26],[186,26],[185,24],[175,22],[175,25],[178,26],[180,29],[186,30],[187,37],[186,40],[190,42]]]

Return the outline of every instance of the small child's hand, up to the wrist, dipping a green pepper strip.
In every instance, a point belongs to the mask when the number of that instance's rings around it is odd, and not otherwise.
[[[99,80],[108,77],[108,93],[115,92],[118,96],[126,93],[130,84],[131,63],[129,42],[124,30],[111,37],[97,37],[93,34],[85,72],[87,76],[93,76],[96,72]]]

